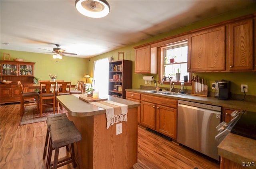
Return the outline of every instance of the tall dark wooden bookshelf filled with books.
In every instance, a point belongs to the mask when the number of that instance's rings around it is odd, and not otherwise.
[[[132,88],[132,61],[110,62],[108,77],[108,94],[125,99],[125,89]]]

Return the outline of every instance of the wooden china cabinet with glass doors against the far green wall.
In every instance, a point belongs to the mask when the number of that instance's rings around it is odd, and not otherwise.
[[[24,92],[29,92],[28,84],[33,83],[34,79],[33,62],[1,61],[1,85],[0,103],[20,102],[20,93],[17,81],[21,81]],[[8,83],[12,81],[12,83]]]

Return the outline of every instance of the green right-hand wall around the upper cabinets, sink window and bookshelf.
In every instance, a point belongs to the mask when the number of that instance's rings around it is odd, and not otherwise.
[[[233,11],[230,13],[226,13],[214,18],[210,18],[207,20],[202,20],[200,22],[196,22],[194,24],[188,25],[188,26],[184,26],[182,28],[176,29],[176,30],[172,30],[170,32],[166,32],[163,33],[161,35],[157,35],[148,39],[145,39],[143,41],[140,41],[139,43],[135,43],[133,45],[128,45],[126,47],[122,47],[120,49],[116,49],[107,53],[104,53],[102,55],[98,55],[96,57],[92,57],[91,61],[89,61],[88,64],[88,70],[90,71],[90,73],[92,74],[92,70],[93,70],[93,61],[94,60],[98,60],[98,59],[102,59],[105,57],[114,57],[114,61],[118,60],[118,52],[124,52],[124,59],[127,60],[132,60],[133,61],[133,72],[134,72],[134,47],[138,46],[138,45],[142,45],[145,43],[149,43],[152,41],[156,41],[159,39],[163,39],[165,37],[169,37],[172,35],[177,35],[180,33],[184,33],[193,29],[198,29],[198,28],[202,28],[205,26],[209,26],[212,24],[216,24],[219,22],[223,22],[226,20],[230,20],[233,18],[238,18],[240,16],[245,16],[248,14],[252,14],[256,12],[256,3],[254,4],[254,6],[249,6],[245,9],[242,10],[238,10],[238,11]],[[148,76],[148,75],[152,75],[154,76],[154,79],[158,79],[158,74],[134,74],[132,75],[132,88],[140,88],[140,85],[144,85],[144,80],[143,80],[143,76]],[[204,77],[205,79],[207,79],[208,81],[208,91],[213,91],[211,89],[211,84],[215,82],[215,80],[222,80],[225,79],[227,81],[231,81],[231,92],[233,94],[243,94],[240,90],[240,86],[241,84],[247,84],[248,85],[248,93],[246,93],[247,95],[254,95],[256,96],[256,72],[251,72],[251,73],[197,73],[194,75],[199,75],[201,77]],[[152,83],[152,85],[146,85],[146,86],[154,86],[154,83]],[[166,87],[168,88],[168,85],[161,85],[162,87]],[[180,86],[175,86],[175,88],[179,88]],[[186,86],[187,89],[191,89],[190,86]]]

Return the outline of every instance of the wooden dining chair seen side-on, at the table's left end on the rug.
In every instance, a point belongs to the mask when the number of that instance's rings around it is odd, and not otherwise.
[[[20,91],[20,116],[24,114],[25,100],[36,99],[36,110],[39,112],[39,94],[38,92],[24,92],[23,86],[20,81],[17,81]]]

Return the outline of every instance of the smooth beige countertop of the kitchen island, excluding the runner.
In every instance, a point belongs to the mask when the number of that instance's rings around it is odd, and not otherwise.
[[[70,94],[57,96],[56,99],[72,116],[94,116],[98,114],[106,113],[106,110],[98,106],[94,106],[88,102],[79,99],[79,96],[87,96],[86,94]],[[128,108],[135,108],[140,106],[140,103],[117,98],[114,96],[108,96],[108,100],[126,104]]]

